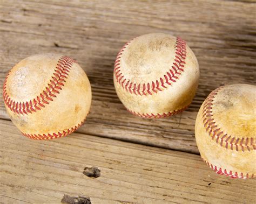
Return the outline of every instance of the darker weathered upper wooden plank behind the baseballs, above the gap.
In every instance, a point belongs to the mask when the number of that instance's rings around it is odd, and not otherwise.
[[[1,1],[0,83],[18,61],[37,53],[75,58],[89,76],[93,101],[80,133],[199,153],[194,123],[211,90],[256,81],[256,6],[233,1]],[[113,87],[116,54],[150,32],[185,39],[200,65],[196,97],[183,114],[166,119],[132,116]],[[3,100],[0,118],[8,119]]]

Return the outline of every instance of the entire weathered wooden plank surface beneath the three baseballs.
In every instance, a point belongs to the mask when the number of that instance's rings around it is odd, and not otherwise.
[[[23,58],[62,53],[84,68],[93,95],[90,115],[77,133],[43,143],[18,133],[1,97],[0,200],[59,202],[69,193],[90,196],[93,203],[255,201],[255,180],[215,175],[196,155],[194,138],[197,111],[211,90],[255,85],[255,10],[253,1],[0,0],[0,86]],[[170,118],[132,116],[113,87],[120,48],[150,32],[180,36],[199,61],[196,97]],[[81,172],[87,165],[101,168],[102,176],[86,178]]]

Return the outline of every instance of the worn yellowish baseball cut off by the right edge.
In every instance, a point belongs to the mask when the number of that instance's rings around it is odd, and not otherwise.
[[[251,178],[256,173],[256,86],[215,89],[201,105],[196,140],[203,160],[216,173]]]

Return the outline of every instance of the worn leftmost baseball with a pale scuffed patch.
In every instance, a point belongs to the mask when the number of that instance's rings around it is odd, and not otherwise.
[[[64,137],[84,122],[91,106],[90,82],[75,60],[38,54],[15,65],[4,81],[5,108],[24,136]]]

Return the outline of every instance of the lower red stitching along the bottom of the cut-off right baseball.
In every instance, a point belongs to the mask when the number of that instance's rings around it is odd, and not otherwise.
[[[208,167],[212,168],[212,170],[215,171],[215,173],[218,173],[220,175],[227,175],[228,177],[231,177],[233,179],[254,178],[254,174],[249,175],[248,173],[242,173],[242,172],[240,174],[238,174],[238,172],[228,171],[225,168],[221,169],[221,167],[217,167],[215,165],[212,165],[208,161],[206,161],[203,157],[202,157],[202,159],[205,161],[205,163],[208,165]]]

